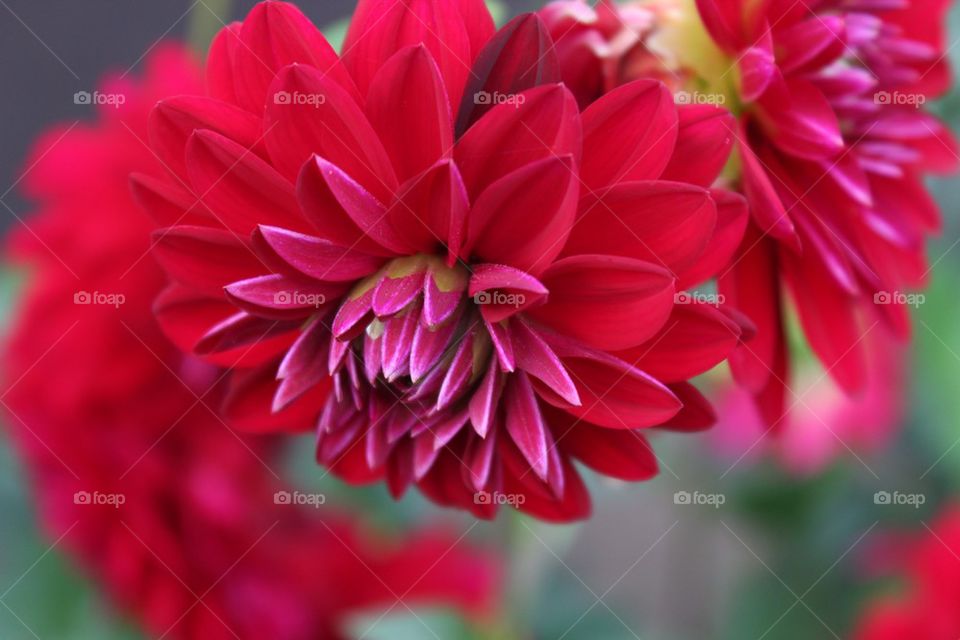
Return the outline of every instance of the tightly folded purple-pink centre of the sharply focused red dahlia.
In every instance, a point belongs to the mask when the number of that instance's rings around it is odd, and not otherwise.
[[[469,281],[464,266],[421,254],[392,260],[360,282],[334,319],[329,370],[337,406],[328,405],[321,427],[335,429],[366,411],[371,428],[382,423],[392,444],[452,415],[462,416],[462,426],[494,347]]]

